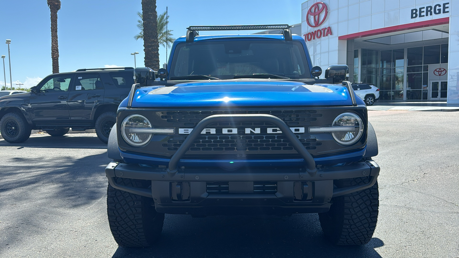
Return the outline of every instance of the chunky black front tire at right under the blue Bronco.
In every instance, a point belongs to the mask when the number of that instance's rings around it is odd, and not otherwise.
[[[336,186],[362,185],[368,177],[336,180]],[[325,236],[341,246],[364,245],[371,240],[378,220],[378,182],[370,188],[332,199],[330,211],[319,213]]]

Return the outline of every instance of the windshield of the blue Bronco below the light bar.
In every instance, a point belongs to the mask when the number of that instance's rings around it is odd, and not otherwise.
[[[288,79],[311,78],[302,44],[284,40],[180,43],[174,52],[169,73],[169,79],[188,75],[234,79],[235,75],[254,73],[280,75]],[[192,76],[189,78],[209,79]]]

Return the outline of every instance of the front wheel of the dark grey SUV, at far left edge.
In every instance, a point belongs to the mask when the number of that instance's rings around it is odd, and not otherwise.
[[[18,113],[7,113],[0,120],[1,136],[9,143],[20,143],[30,137],[32,128],[27,120]]]

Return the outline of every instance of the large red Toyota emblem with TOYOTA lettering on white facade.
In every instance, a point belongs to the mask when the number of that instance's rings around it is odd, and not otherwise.
[[[309,8],[308,13],[306,14],[306,23],[308,23],[308,26],[311,28],[317,28],[325,22],[327,16],[327,5],[325,5],[323,2],[317,2]],[[304,40],[311,41],[313,39],[320,39],[328,35],[332,35],[330,26],[326,28],[319,28],[313,32],[304,34]]]

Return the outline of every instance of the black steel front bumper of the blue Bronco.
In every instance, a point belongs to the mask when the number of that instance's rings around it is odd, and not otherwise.
[[[360,191],[375,184],[380,168],[372,160],[342,166],[318,168],[251,168],[234,171],[221,168],[142,167],[138,164],[109,163],[105,169],[114,188],[153,198],[160,213],[197,216],[227,213],[319,213],[330,209],[333,197]],[[116,177],[151,180],[151,189],[120,185]],[[368,183],[336,188],[334,180],[368,177]],[[228,183],[228,191],[213,193],[209,184]],[[254,185],[269,182],[271,192],[257,193]]]

